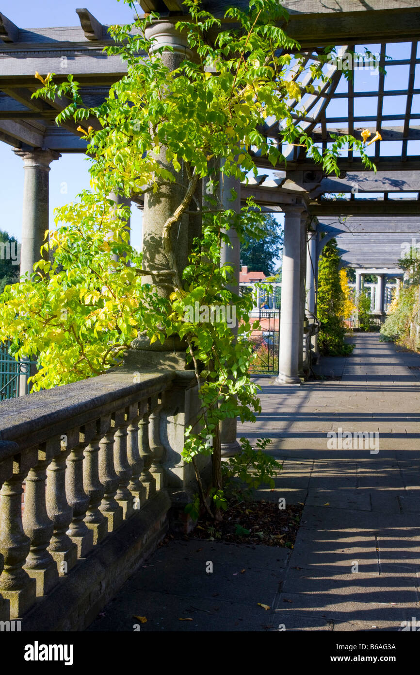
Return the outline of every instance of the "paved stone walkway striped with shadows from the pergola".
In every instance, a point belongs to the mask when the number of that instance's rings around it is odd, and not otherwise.
[[[261,379],[258,422],[239,427],[239,436],[271,438],[283,461],[276,491],[262,497],[305,504],[293,551],[173,541],[88,630],[133,630],[134,615],[154,631],[395,631],[420,620],[420,356],[375,333],[352,341],[351,356],[323,361],[340,381]],[[370,432],[371,450],[338,439],[328,448],[339,429]]]

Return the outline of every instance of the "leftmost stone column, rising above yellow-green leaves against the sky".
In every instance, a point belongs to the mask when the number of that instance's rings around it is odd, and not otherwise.
[[[24,199],[22,219],[22,250],[20,274],[33,271],[41,259],[45,230],[49,229],[49,170],[50,164],[61,155],[52,150],[15,150],[24,160]],[[47,254],[42,258],[48,259]]]

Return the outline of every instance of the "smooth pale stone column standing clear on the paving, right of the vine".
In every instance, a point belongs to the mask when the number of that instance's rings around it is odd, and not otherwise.
[[[280,308],[280,342],[278,384],[299,384],[299,307],[301,266],[301,213],[303,207],[287,207],[284,217],[282,263],[282,301]]]

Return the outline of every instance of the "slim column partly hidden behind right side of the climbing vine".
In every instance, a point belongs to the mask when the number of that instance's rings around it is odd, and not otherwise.
[[[236,197],[231,199],[231,190],[235,190]],[[220,205],[222,209],[232,209],[236,213],[241,211],[241,183],[237,178],[229,178],[220,173]],[[220,251],[220,267],[231,265],[234,269],[234,280],[229,284],[229,290],[239,295],[239,270],[241,269],[241,245],[236,230],[231,227],[227,231],[231,246],[222,244]],[[260,306],[260,305],[258,305]],[[237,336],[238,327],[235,325],[232,332],[234,339]],[[226,418],[220,423],[220,442],[222,456],[231,456],[241,450],[237,439],[237,418]]]

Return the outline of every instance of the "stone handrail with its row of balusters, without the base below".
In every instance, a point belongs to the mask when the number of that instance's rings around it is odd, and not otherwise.
[[[177,375],[136,376],[107,373],[1,402],[0,620],[21,618],[65,584],[164,491],[159,411]]]

